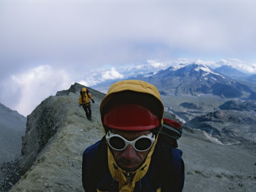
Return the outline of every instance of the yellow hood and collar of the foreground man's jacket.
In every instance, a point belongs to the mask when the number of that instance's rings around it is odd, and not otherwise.
[[[158,92],[158,90],[155,86],[153,86],[152,84],[149,84],[145,81],[125,80],[125,81],[118,81],[118,82],[112,84],[112,86],[108,90],[108,93],[106,94],[106,97],[102,100],[102,102],[100,104],[100,114],[102,116],[104,116],[104,107],[106,106],[106,104],[111,102],[111,99],[115,99],[116,93],[120,93],[120,92],[124,92],[124,91],[146,93],[145,95],[143,95],[143,97],[145,97],[144,99],[150,100],[150,103],[148,103],[148,105],[154,106],[155,113],[159,117],[159,122],[161,122],[161,124],[163,125],[164,107],[163,107],[163,103],[161,102],[160,93]],[[151,99],[148,99],[147,95]],[[137,97],[138,96],[133,97],[132,99],[136,100]],[[106,134],[106,131],[105,131],[105,134]],[[145,174],[148,171],[148,167],[149,167],[149,164],[151,161],[151,156],[152,156],[152,153],[154,152],[156,142],[157,142],[157,139],[156,139],[156,141],[154,141],[154,144],[152,145],[150,151],[148,152],[145,162],[143,164],[141,164],[140,168],[138,168],[138,170],[136,170],[136,172],[134,173],[134,177],[132,179],[131,184],[127,183],[127,179],[124,175],[125,174],[124,170],[122,170],[121,168],[119,168],[117,166],[117,164],[115,162],[115,158],[113,157],[113,154],[111,153],[111,150],[108,147],[109,171],[110,171],[112,177],[115,178],[115,180],[117,180],[119,182],[119,191],[120,192],[126,192],[126,191],[132,192],[134,190],[135,183],[138,182],[138,180],[140,180],[142,177],[145,176]],[[115,164],[115,166],[113,166],[113,164]],[[157,191],[160,191],[160,189]]]

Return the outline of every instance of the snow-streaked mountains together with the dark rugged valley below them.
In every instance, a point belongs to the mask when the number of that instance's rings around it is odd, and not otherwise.
[[[192,128],[206,131],[226,144],[256,142],[256,113],[253,109],[255,87],[253,82],[231,77],[236,74],[242,73],[232,67],[213,70],[207,65],[192,63],[132,79],[154,84],[161,93],[166,111],[175,114]],[[111,83],[93,88],[107,90]],[[239,109],[223,108],[233,101],[239,103]],[[216,114],[217,119],[209,118]]]

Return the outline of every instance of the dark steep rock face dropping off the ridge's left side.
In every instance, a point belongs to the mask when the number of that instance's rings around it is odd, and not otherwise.
[[[19,159],[22,175],[31,168],[38,153],[61,127],[67,115],[63,102],[64,97],[50,96],[28,115],[26,132],[22,136],[22,156]]]

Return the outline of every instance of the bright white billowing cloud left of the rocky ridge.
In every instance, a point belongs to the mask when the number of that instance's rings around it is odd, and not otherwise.
[[[22,74],[15,74],[11,82],[15,84],[15,88],[9,93],[12,99],[11,107],[25,116],[29,115],[42,100],[55,95],[57,91],[67,90],[72,84],[67,72],[49,65],[40,65]],[[15,97],[12,97],[13,95]]]

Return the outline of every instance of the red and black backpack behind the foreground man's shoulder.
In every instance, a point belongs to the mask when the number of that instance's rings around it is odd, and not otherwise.
[[[181,137],[182,126],[174,120],[163,118],[163,127],[159,132],[159,138],[163,138],[165,142],[170,143],[173,148],[178,147],[177,140]]]

